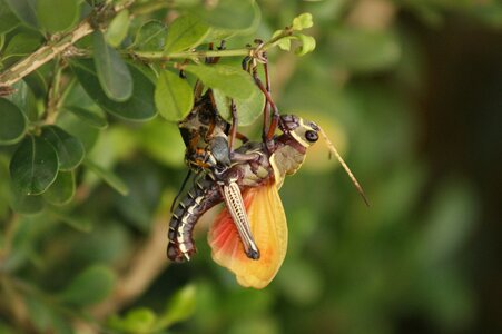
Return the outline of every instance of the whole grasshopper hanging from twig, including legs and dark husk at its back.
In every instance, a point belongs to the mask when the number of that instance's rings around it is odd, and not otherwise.
[[[266,57],[265,55],[262,55]],[[266,60],[266,58],[265,58]],[[253,61],[253,63],[250,63]],[[265,96],[262,141],[237,131],[218,116],[210,89],[197,95],[194,110],[180,124],[186,163],[199,177],[179,200],[169,222],[167,256],[186,262],[196,253],[193,232],[200,216],[224,202],[208,233],[211,257],[245,287],[263,288],[277,274],[287,249],[286,215],[278,190],[295,174],[308,147],[323,137],[367,204],[364,191],[322,128],[295,115],[280,115],[272,99],[266,63],[263,84],[255,59],[243,62]],[[243,66],[243,67],[245,67]],[[196,86],[196,91],[201,91]],[[280,134],[276,135],[276,130]],[[235,138],[243,145],[233,149]]]

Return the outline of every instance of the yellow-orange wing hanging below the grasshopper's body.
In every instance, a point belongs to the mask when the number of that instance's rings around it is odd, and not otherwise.
[[[264,288],[277,274],[287,249],[287,225],[277,187],[250,188],[243,194],[259,259],[246,256],[237,228],[225,208],[209,228],[213,259],[236,275],[245,287]]]

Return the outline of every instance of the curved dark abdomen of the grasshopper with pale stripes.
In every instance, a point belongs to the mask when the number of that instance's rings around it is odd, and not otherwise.
[[[196,253],[194,227],[200,216],[222,202],[217,184],[209,177],[195,183],[181,198],[169,222],[167,257],[174,262],[189,261]]]

